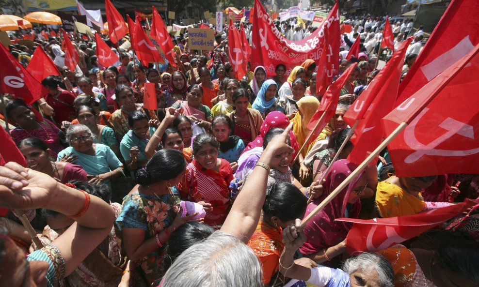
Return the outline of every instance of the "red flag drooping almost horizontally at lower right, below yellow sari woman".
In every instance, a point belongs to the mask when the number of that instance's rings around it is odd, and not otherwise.
[[[346,237],[346,251],[353,254],[356,251],[379,251],[404,242],[444,223],[476,204],[478,204],[477,201],[466,198],[459,204],[413,215],[369,220],[353,218],[336,220],[352,223],[352,228]]]

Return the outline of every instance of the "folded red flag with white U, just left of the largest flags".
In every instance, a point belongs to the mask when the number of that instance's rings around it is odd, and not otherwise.
[[[381,119],[394,107],[404,57],[412,40],[413,37],[409,37],[401,44],[391,60],[344,115],[344,121],[350,126],[361,120],[354,129],[354,136],[351,137],[354,148],[348,156],[350,162],[361,164],[381,144],[383,140]],[[371,164],[374,165],[375,161]]]

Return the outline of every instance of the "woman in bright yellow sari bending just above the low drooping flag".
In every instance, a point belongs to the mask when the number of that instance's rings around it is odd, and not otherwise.
[[[450,205],[448,202],[424,201],[421,191],[437,176],[399,178],[392,176],[378,183],[376,206],[381,217],[412,215]]]

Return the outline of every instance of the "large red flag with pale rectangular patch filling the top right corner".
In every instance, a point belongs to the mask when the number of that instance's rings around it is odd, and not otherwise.
[[[479,1],[453,0],[399,85],[398,106],[479,44]]]

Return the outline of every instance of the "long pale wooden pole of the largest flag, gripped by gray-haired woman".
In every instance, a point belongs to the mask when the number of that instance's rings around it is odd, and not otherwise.
[[[406,122],[402,122],[386,139],[371,153],[369,156],[353,171],[351,174],[339,184],[338,187],[311,212],[306,216],[301,222],[301,229],[303,229],[306,224],[321,211],[328,203],[335,198],[353,179],[355,179],[361,171],[376,157],[381,151],[396,137],[399,133],[407,126]]]

